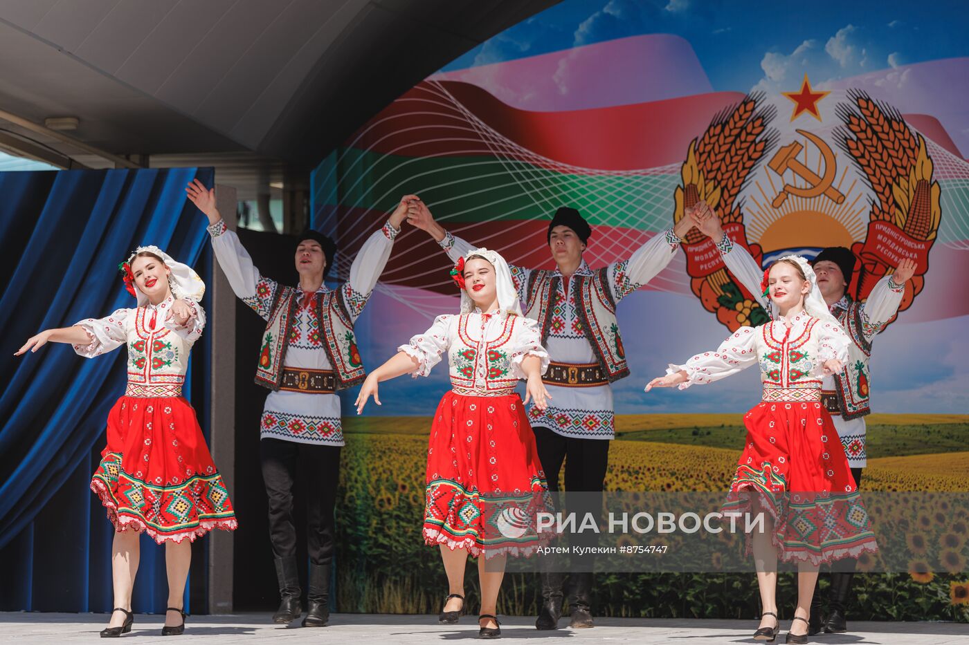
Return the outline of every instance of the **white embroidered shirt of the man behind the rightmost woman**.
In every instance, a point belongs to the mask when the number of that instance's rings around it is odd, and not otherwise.
[[[755,295],[761,307],[771,318],[776,317],[776,306],[772,302],[768,302],[767,298],[760,292],[764,270],[751,257],[747,249],[740,244],[735,244],[727,235],[724,235],[720,243],[717,244],[717,248],[720,249],[720,257],[723,258],[727,268],[740,281],[740,284],[748,292]],[[869,342],[885,329],[891,317],[898,311],[898,306],[901,304],[904,294],[905,285],[896,285],[891,280],[890,275],[885,276],[872,287],[861,310],[862,333]],[[841,300],[830,307],[831,314],[841,320],[843,312],[848,308],[848,303],[847,296],[842,297]],[[834,377],[825,377],[822,389],[834,391],[836,388]],[[831,415],[831,418],[834,420],[834,427],[838,431],[838,439],[841,440],[845,454],[848,455],[848,465],[852,468],[864,468],[868,463],[864,447],[867,432],[864,417],[845,419],[841,415]]]

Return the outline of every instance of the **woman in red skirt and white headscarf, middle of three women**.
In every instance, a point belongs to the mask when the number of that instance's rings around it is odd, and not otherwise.
[[[495,612],[505,558],[535,551],[543,539],[535,530],[536,513],[551,510],[525,414],[530,399],[540,409],[547,407],[542,375],[548,354],[536,323],[521,315],[508,263],[500,255],[469,251],[452,275],[462,290],[460,314],[439,316],[371,372],[360,388],[357,412],[371,395],[380,405],[381,381],[403,374],[427,376],[441,354],[448,354],[452,389],[441,399],[430,430],[423,537],[429,545],[440,545],[448,573],[451,595],[440,622],[456,623],[463,609],[470,553],[479,558],[479,636],[494,638],[501,634]],[[524,403],[515,392],[522,378]],[[500,530],[509,518],[516,526],[511,536]]]

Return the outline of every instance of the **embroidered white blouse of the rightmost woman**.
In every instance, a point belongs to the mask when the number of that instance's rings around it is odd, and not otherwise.
[[[764,400],[819,400],[824,363],[831,358],[847,360],[850,342],[841,325],[801,312],[789,321],[778,317],[758,327],[740,327],[715,352],[698,353],[682,365],[671,363],[667,374],[686,372],[687,381],[679,384],[685,389],[757,364]]]

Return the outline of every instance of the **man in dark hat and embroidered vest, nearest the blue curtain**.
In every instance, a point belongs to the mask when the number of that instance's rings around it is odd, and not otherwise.
[[[309,552],[309,601],[303,627],[325,627],[329,617],[330,564],[333,556],[333,505],[339,480],[340,400],[335,392],[359,384],[365,376],[354,323],[391,257],[393,239],[407,213],[408,196],[387,224],[363,243],[350,267],[350,278],[330,291],[324,284],[336,251],[325,235],[307,230],[297,237],[297,287],[262,275],[226,228],[215,207],[214,191],[198,181],[188,198],[208,217],[212,249],[235,294],[266,320],[256,383],[270,390],[263,409],[260,461],[269,506],[269,537],[282,597],[276,623],[296,620],[299,605],[297,535],[293,521],[293,485],[297,461],[311,464],[307,484],[306,542]]]

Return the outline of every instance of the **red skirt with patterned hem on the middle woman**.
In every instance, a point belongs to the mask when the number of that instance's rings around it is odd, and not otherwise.
[[[424,542],[471,555],[530,556],[552,537],[552,512],[535,435],[517,394],[441,399],[427,445]]]

